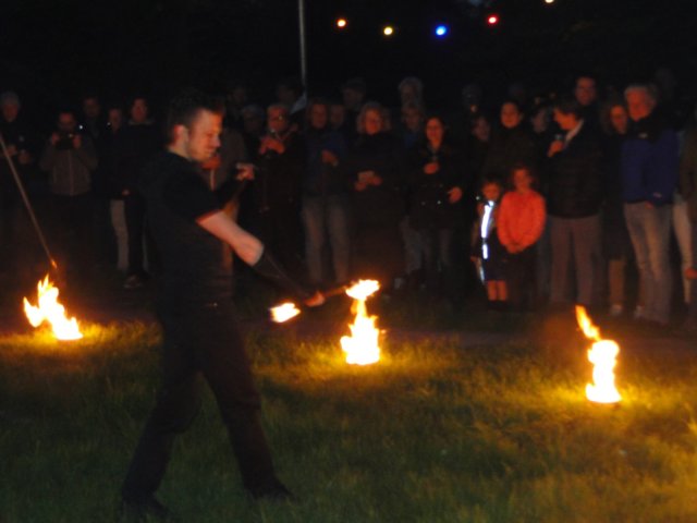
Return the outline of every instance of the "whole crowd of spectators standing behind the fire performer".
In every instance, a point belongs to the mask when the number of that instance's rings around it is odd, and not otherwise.
[[[695,329],[697,126],[664,80],[601,89],[579,75],[568,93],[514,84],[498,101],[470,84],[440,112],[416,77],[396,107],[359,77],[311,98],[286,78],[264,106],[235,82],[199,172],[211,191],[236,181],[222,205],[318,288],[376,278],[386,296],[453,306],[486,289],[494,309],[583,304]],[[0,96],[0,273],[41,257],[12,166],[68,281],[106,266],[132,290],[158,271],[138,192],[167,144],[150,101],[86,95],[42,138],[17,94]]]

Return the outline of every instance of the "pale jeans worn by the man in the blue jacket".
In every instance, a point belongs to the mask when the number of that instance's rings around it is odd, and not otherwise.
[[[661,324],[670,318],[673,287],[669,258],[671,210],[670,205],[624,204],[624,218],[646,299],[643,317]]]

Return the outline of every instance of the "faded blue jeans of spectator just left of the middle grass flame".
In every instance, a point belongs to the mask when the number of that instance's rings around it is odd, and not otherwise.
[[[306,196],[303,199],[303,227],[305,228],[305,257],[309,281],[327,283],[325,245],[329,240],[331,265],[335,282],[348,280],[351,257],[350,207],[343,195]]]

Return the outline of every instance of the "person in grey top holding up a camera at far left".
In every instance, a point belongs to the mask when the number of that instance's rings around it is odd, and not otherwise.
[[[93,265],[90,185],[97,161],[91,139],[77,132],[75,113],[61,110],[39,167],[49,175],[50,223],[54,227],[57,262],[59,267],[75,275],[87,275]]]

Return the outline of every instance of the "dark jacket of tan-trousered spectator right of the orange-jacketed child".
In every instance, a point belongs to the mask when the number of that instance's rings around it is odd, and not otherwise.
[[[597,215],[602,204],[602,147],[585,125],[550,159],[547,211],[560,218]]]

